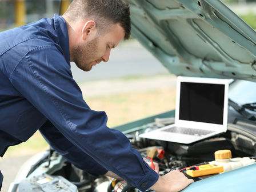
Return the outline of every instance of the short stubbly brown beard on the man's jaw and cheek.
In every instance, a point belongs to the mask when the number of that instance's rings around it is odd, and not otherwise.
[[[86,43],[86,45],[76,45],[73,47],[73,60],[79,69],[90,71],[93,65],[91,62],[101,59],[95,58],[98,52],[98,38],[95,38]]]

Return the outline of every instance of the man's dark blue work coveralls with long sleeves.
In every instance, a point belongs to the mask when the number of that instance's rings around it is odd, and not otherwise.
[[[106,126],[105,112],[83,100],[58,15],[0,33],[0,114],[1,157],[39,129],[51,147],[92,175],[110,170],[142,191],[158,179],[129,139]]]

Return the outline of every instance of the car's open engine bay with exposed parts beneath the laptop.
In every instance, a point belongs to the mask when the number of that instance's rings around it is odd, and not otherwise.
[[[143,159],[150,157],[158,163],[159,175],[177,169],[186,177],[192,178],[186,174],[185,167],[206,165],[214,161],[214,152],[218,150],[230,150],[232,158],[255,159],[254,123],[239,118],[233,120],[233,123],[228,124],[226,133],[189,145],[139,137],[140,133],[173,123],[173,118],[154,118],[154,122],[143,124],[139,129],[138,127],[131,129],[126,136],[130,139],[131,145],[141,153]],[[150,158],[146,161],[150,161]],[[217,174],[193,177],[193,179],[197,182]],[[95,178],[72,165],[52,149],[45,151],[30,167],[25,179],[14,183],[12,191],[139,192],[127,182],[105,176]]]

